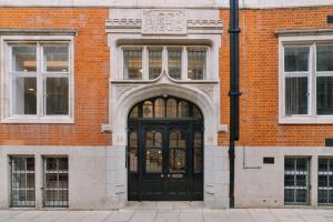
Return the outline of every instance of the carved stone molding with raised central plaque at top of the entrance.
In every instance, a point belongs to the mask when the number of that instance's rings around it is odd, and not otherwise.
[[[221,19],[189,17],[184,9],[142,9],[141,17],[108,19],[107,32],[123,33],[131,29],[132,33],[142,36],[186,36],[193,32],[201,33],[202,30],[204,33],[218,34],[223,31]]]

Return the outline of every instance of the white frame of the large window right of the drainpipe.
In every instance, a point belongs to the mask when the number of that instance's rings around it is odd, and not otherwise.
[[[279,38],[279,124],[332,124],[332,115],[316,114],[316,44],[333,44],[333,36],[296,36]],[[310,47],[307,114],[285,115],[284,49],[286,47]]]

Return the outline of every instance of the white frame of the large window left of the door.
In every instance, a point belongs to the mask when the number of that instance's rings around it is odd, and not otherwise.
[[[72,36],[2,36],[0,38],[1,43],[1,123],[74,123],[74,44]],[[38,46],[52,46],[57,43],[68,43],[69,44],[69,114],[67,115],[47,115],[44,114],[44,83],[38,78],[43,73],[42,70],[37,70],[40,72],[37,74],[37,114],[36,115],[18,115],[11,114],[11,82],[10,82],[10,50],[12,43],[37,43]],[[41,50],[42,51],[42,50]],[[37,51],[37,62],[41,65],[42,59]],[[47,74],[50,77],[50,74]],[[58,75],[57,75],[58,77]],[[61,77],[61,75],[59,75]]]

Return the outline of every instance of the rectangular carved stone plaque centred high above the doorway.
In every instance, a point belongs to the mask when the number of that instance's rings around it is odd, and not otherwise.
[[[143,10],[142,34],[186,34],[184,10]]]

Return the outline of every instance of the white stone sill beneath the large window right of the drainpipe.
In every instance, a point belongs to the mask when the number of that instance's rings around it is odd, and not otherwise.
[[[290,117],[280,118],[279,124],[333,124],[332,117]]]

